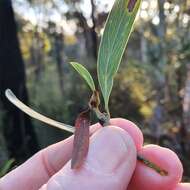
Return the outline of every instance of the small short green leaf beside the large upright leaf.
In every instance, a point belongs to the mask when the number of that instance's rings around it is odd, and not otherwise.
[[[88,70],[84,66],[82,66],[81,64],[79,64],[79,63],[71,62],[70,64],[82,76],[82,78],[87,82],[87,84],[89,85],[89,87],[91,88],[91,90],[94,92],[96,90],[95,84],[94,84],[92,76],[88,72]]]

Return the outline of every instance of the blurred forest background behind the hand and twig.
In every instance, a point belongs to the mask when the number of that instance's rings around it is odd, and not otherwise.
[[[0,0],[0,165],[20,164],[69,133],[30,119],[35,110],[73,125],[90,92],[68,64],[96,77],[97,49],[113,0]],[[110,39],[112,40],[112,39]],[[175,151],[190,179],[190,0],[143,0],[116,76],[112,117],[135,122],[146,143]],[[166,158],[167,159],[167,158]]]

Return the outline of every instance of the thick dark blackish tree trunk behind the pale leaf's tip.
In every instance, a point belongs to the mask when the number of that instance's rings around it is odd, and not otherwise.
[[[37,140],[28,116],[9,103],[4,92],[13,90],[19,99],[28,102],[25,67],[19,49],[16,22],[11,0],[0,1],[0,98],[4,119],[4,135],[10,157],[23,161],[37,149]]]

